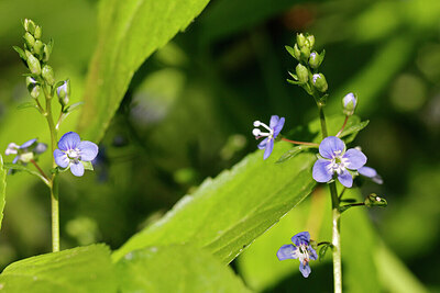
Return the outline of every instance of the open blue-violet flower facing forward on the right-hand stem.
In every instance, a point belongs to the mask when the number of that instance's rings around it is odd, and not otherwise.
[[[336,136],[322,139],[319,145],[319,158],[314,166],[314,179],[318,182],[329,182],[338,176],[339,182],[351,188],[353,177],[349,170],[358,170],[366,162],[365,155],[355,148],[345,151],[345,144]]]

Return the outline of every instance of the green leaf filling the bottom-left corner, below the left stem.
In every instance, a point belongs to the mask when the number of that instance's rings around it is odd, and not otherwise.
[[[117,292],[110,250],[92,245],[13,262],[0,274],[4,292]]]

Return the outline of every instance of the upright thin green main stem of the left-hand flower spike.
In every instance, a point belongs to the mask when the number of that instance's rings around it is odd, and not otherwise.
[[[56,149],[57,143],[57,131],[54,124],[54,117],[52,115],[52,88],[47,90],[47,87],[43,86],[44,95],[46,97],[46,120],[51,132],[51,146],[52,154]],[[55,158],[52,156],[52,167],[56,167]],[[58,180],[56,180],[56,173],[52,176],[51,184],[51,206],[52,206],[52,251],[59,251],[59,203],[58,203]]]

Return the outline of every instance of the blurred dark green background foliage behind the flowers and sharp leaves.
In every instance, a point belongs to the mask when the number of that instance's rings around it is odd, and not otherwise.
[[[30,99],[21,76],[25,68],[12,49],[22,43],[20,20],[33,19],[43,26],[44,40],[55,40],[51,65],[58,79],[70,78],[73,100],[80,101],[96,45],[97,2],[1,1],[0,16],[0,147],[6,149],[7,138],[22,144],[46,127],[36,111],[16,110]],[[296,63],[284,45],[293,45],[297,32],[315,34],[318,50],[326,48],[320,70],[329,82],[327,113],[340,113],[342,97],[353,91],[358,114],[371,120],[354,145],[385,180],[362,187],[364,195],[374,191],[388,200],[387,209],[369,214],[378,236],[427,290],[440,291],[438,0],[212,0],[136,71],[100,143],[96,172],[81,179],[63,174],[62,247],[97,241],[120,247],[205,178],[254,151],[254,120],[278,114],[286,117],[287,131],[315,119],[312,99],[285,81]],[[11,123],[20,131],[11,134]],[[324,217],[314,213],[319,196],[318,190],[304,203],[307,213],[296,209],[304,213],[297,228],[311,229]],[[0,268],[50,251],[50,233],[46,188],[28,174],[9,177]],[[287,244],[295,233],[274,246]],[[350,241],[351,235],[342,237]],[[246,259],[265,259],[258,240],[232,263],[248,285],[290,292],[314,283],[316,291],[330,291],[329,263],[312,264],[315,281],[300,279],[296,262],[283,262],[284,272],[273,277],[264,274],[264,261],[250,272]],[[366,249],[378,249],[377,243],[370,245]],[[255,281],[258,273],[267,280]]]

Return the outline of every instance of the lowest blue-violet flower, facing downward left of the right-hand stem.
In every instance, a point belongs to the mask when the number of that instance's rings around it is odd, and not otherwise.
[[[304,278],[307,278],[311,272],[309,261],[318,259],[317,252],[310,246],[310,234],[308,232],[298,233],[292,237],[292,241],[294,245],[283,245],[276,256],[279,260],[298,259],[299,271]]]

